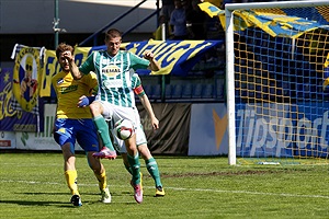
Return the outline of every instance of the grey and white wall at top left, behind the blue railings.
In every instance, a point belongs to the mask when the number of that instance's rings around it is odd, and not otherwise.
[[[58,0],[59,27],[67,33],[94,33],[141,0]],[[147,0],[139,9],[114,25],[125,32],[157,9]],[[0,34],[54,33],[55,0],[0,0]],[[156,30],[157,19],[144,23],[135,33]]]

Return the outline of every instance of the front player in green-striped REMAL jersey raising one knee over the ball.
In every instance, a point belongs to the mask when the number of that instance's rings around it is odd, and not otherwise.
[[[140,58],[131,51],[120,50],[122,34],[116,28],[111,28],[105,33],[106,50],[94,51],[78,68],[75,61],[67,56],[70,71],[76,80],[81,79],[90,71],[95,72],[99,82],[99,91],[94,102],[90,104],[94,123],[98,127],[101,140],[104,145],[102,150],[94,153],[97,158],[115,159],[116,152],[113,148],[109,135],[109,126],[104,117],[114,123],[121,118],[126,118],[133,123],[135,128],[138,122],[135,116],[134,91],[132,89],[131,69],[150,69],[158,71],[159,64],[155,60],[154,54],[147,51]],[[134,187],[135,200],[143,201],[143,189],[140,185],[140,163],[136,147],[136,135],[125,140],[127,158],[132,166],[132,186]]]

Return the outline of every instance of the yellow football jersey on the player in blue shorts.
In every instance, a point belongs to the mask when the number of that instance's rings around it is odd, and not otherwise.
[[[52,78],[52,84],[57,94],[57,118],[92,118],[89,106],[77,105],[80,96],[89,96],[98,87],[93,72],[75,80],[71,73],[61,71]]]

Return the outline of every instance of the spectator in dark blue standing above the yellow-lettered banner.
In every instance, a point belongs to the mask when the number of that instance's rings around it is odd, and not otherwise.
[[[181,0],[174,0],[174,10],[170,16],[170,25],[173,25],[173,37],[172,39],[186,39],[186,16],[185,9],[183,8]]]

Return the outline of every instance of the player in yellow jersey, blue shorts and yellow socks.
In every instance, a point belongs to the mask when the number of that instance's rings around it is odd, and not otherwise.
[[[98,85],[95,74],[88,74],[81,80],[73,80],[68,61],[63,54],[73,59],[73,47],[59,44],[56,48],[56,57],[61,71],[52,78],[52,84],[57,94],[57,113],[54,125],[55,141],[61,147],[64,155],[64,171],[67,185],[71,191],[71,203],[81,206],[81,197],[77,184],[77,170],[75,157],[75,143],[79,142],[86,151],[88,164],[99,181],[103,203],[111,203],[111,194],[106,185],[106,174],[100,159],[92,154],[99,151],[97,128],[89,107],[78,107],[77,102],[81,95],[90,95]]]

